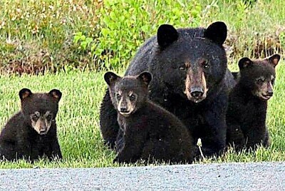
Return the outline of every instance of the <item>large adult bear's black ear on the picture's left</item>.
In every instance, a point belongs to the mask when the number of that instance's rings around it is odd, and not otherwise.
[[[157,29],[157,43],[161,48],[169,46],[178,39],[178,32],[169,24],[162,24]]]

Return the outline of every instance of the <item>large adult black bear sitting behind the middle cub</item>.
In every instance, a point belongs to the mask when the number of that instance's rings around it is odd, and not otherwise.
[[[236,83],[227,69],[222,46],[226,38],[227,26],[219,21],[207,29],[176,30],[163,24],[140,47],[125,73],[150,71],[150,100],[180,118],[195,141],[201,138],[202,152],[208,156],[225,148],[227,96]],[[100,130],[111,148],[122,137],[116,120],[107,91],[100,107]]]

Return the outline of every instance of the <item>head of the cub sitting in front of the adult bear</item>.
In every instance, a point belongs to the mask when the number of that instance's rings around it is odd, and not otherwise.
[[[104,79],[109,86],[110,98],[118,113],[128,117],[135,113],[147,99],[147,86],[152,80],[151,73],[145,71],[138,76],[117,76],[105,73]]]

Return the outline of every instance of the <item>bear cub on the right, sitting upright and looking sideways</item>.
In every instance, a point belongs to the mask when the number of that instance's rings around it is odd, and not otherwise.
[[[273,95],[275,66],[279,60],[278,54],[264,60],[239,60],[238,83],[229,93],[227,110],[227,144],[237,151],[269,146],[267,100]]]

